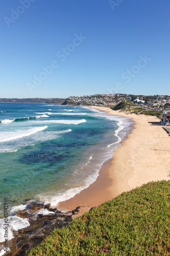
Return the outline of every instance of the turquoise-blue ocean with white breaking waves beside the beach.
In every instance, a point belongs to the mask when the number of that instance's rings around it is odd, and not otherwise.
[[[84,106],[35,103],[0,103],[0,120],[0,242],[4,198],[11,239],[13,230],[29,225],[13,214],[26,199],[56,206],[80,193],[133,123]]]

